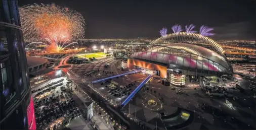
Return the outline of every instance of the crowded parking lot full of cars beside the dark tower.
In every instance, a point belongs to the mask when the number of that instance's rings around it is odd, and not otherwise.
[[[36,127],[59,129],[83,115],[84,105],[73,95],[71,81],[61,77],[32,89]]]

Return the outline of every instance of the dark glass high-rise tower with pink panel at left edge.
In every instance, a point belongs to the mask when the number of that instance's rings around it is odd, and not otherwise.
[[[35,129],[17,0],[0,0],[0,129]]]

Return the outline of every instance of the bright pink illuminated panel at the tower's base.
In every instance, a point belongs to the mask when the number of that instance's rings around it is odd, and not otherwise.
[[[28,129],[36,129],[35,125],[35,114],[34,114],[34,103],[33,97],[31,96],[30,103],[27,107],[27,122],[28,122]]]

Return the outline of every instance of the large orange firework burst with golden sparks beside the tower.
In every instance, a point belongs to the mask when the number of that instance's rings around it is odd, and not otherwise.
[[[47,46],[51,52],[59,52],[75,44],[72,40],[83,38],[84,19],[76,11],[52,5],[28,5],[20,9],[24,40],[31,44]],[[69,44],[68,44],[69,43]]]

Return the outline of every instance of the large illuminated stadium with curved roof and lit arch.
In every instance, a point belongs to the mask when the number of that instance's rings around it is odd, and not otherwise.
[[[197,80],[233,73],[221,45],[201,34],[167,34],[153,40],[148,48],[133,52],[127,60],[127,67],[168,79],[178,86],[185,85],[186,76]]]

